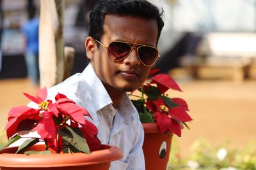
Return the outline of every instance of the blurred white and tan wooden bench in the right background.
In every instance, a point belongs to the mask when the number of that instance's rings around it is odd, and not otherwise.
[[[205,35],[196,57],[183,62],[195,78],[256,78],[256,34],[220,33]]]

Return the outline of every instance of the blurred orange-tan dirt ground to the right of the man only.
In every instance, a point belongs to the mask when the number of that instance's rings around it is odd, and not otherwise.
[[[184,129],[178,138],[181,153],[188,153],[198,138],[214,146],[228,142],[237,149],[255,141],[256,81],[187,81],[179,85],[184,93],[173,96],[187,101],[193,117],[190,130]]]

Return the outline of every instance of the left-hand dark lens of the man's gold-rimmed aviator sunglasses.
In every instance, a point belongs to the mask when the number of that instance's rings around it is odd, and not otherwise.
[[[122,60],[131,51],[131,46],[127,43],[112,42],[108,46],[108,56],[111,60]]]

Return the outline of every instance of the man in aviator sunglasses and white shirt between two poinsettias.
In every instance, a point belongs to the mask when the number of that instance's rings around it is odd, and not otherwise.
[[[159,57],[162,14],[147,1],[99,1],[85,40],[90,64],[49,89],[51,98],[60,92],[86,108],[100,141],[121,148],[124,157],[112,162],[111,169],[145,169],[143,127],[126,92],[146,80]]]

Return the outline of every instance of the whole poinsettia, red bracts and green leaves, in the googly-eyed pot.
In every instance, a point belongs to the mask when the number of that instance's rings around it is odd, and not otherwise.
[[[159,69],[152,70],[150,75],[157,71]],[[151,77],[149,83],[143,83],[137,89],[138,92],[130,94],[133,96],[131,101],[138,110],[142,123],[156,122],[162,134],[171,131],[181,136],[183,124],[186,125],[192,118],[188,114],[186,101],[179,97],[169,97],[166,93],[169,89],[182,92],[171,76],[156,74]]]

